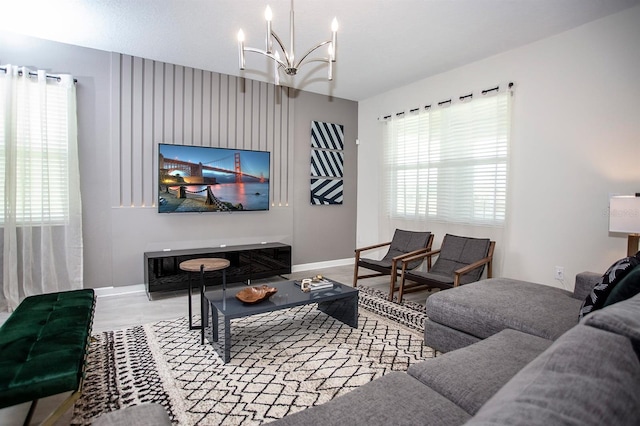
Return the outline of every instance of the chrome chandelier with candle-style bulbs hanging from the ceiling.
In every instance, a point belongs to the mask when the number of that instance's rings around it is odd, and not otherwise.
[[[267,6],[264,12],[264,18],[267,21],[267,36],[266,36],[266,49],[256,49],[253,47],[245,47],[244,45],[244,32],[238,31],[238,44],[240,48],[240,69],[244,70],[244,53],[255,52],[260,53],[274,61],[275,72],[275,84],[280,84],[280,70],[283,70],[285,74],[294,76],[298,73],[300,67],[309,62],[326,62],[328,64],[328,80],[333,80],[333,63],[336,61],[336,41],[338,37],[338,20],[333,18],[331,22],[331,40],[326,40],[315,47],[312,47],[305,53],[300,59],[296,60],[294,56],[294,41],[293,41],[293,0],[291,0],[291,11],[289,12],[289,33],[290,33],[290,49],[287,49],[282,42],[282,39],[271,29],[271,19],[273,14],[271,8]],[[274,43],[275,41],[275,43]],[[275,45],[275,48],[274,48]],[[310,57],[317,49],[322,46],[328,45],[326,57]],[[282,54],[282,56],[281,56]]]

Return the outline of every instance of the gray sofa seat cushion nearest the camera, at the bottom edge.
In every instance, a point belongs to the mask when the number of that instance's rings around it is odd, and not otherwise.
[[[406,373],[392,372],[274,425],[461,425],[471,416]]]

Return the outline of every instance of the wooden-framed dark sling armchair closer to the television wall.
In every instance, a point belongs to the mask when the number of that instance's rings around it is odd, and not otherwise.
[[[367,247],[357,248],[355,250],[355,262],[353,270],[353,286],[358,286],[358,279],[379,277],[383,275],[391,275],[391,287],[395,287],[397,278],[400,276],[400,260],[414,256],[419,253],[428,252],[431,250],[433,244],[433,234],[431,232],[417,232],[417,231],[405,231],[402,229],[396,229],[393,234],[393,239],[386,243],[374,244]],[[362,253],[368,250],[379,249],[381,247],[389,246],[387,254],[380,259],[368,259],[363,258]],[[422,260],[415,262],[408,262],[406,268],[411,270],[422,263]],[[358,275],[358,269],[362,267],[372,271],[376,271],[372,274]],[[391,273],[391,271],[395,271]]]

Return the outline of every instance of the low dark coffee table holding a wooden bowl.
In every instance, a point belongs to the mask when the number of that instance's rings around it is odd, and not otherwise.
[[[358,289],[348,287],[337,281],[332,288],[313,290],[304,293],[299,283],[284,281],[269,284],[278,292],[267,300],[255,304],[246,304],[236,299],[240,288],[208,291],[204,294],[207,300],[205,309],[205,335],[216,352],[228,363],[231,359],[231,320],[243,318],[295,306],[318,304],[318,309],[327,315],[353,327],[358,328]],[[211,311],[211,323],[207,321],[208,311]]]

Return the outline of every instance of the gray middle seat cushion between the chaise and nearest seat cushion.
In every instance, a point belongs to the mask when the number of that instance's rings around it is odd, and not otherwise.
[[[551,343],[503,330],[466,348],[414,364],[407,373],[473,415]]]

